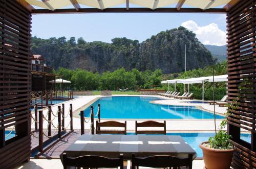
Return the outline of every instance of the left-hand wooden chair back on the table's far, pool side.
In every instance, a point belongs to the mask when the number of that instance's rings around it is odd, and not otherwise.
[[[102,130],[101,127],[119,127],[123,130]],[[98,122],[96,121],[96,134],[126,134],[126,121],[124,123],[116,121]]]

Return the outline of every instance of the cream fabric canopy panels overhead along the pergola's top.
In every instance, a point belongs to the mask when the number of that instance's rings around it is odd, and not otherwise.
[[[181,3],[180,0],[48,0],[48,1],[39,1],[39,0],[25,0],[30,5],[55,10],[64,7],[74,6],[75,8],[79,8],[80,5],[86,5],[88,7],[98,8],[98,9],[105,9],[110,7],[115,7],[117,5],[122,5],[131,3],[145,8],[162,8],[170,5],[182,6],[187,5],[191,7],[196,7],[200,9],[209,9],[214,8],[222,5],[228,4],[231,0],[186,0]]]

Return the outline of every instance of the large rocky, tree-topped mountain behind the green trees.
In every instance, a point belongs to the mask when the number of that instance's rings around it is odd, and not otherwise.
[[[86,42],[82,38],[76,41],[74,37],[70,40],[32,37],[31,49],[33,54],[44,56],[46,64],[55,69],[82,68],[103,73],[120,67],[140,71],[160,68],[164,74],[169,74],[184,71],[185,44],[187,70],[214,63],[196,35],[184,27],[162,31],[141,43],[126,38],[114,38],[112,43],[105,43]]]

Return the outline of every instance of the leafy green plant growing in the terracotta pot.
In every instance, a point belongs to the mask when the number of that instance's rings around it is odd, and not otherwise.
[[[227,125],[227,117],[232,114],[232,110],[238,108],[237,100],[232,101],[228,105],[228,111],[225,113],[226,118],[222,120],[220,129],[217,134],[213,137],[209,138],[209,143],[205,146],[212,149],[220,149],[220,150],[228,150],[232,149],[233,145],[230,143],[229,139],[232,138],[227,132],[224,130],[225,126]]]

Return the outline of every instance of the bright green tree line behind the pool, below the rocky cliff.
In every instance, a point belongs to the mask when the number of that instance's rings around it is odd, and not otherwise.
[[[74,90],[118,90],[128,88],[129,90],[140,89],[165,89],[167,84],[161,84],[161,81],[170,79],[187,79],[198,78],[204,76],[212,76],[214,68],[215,75],[225,75],[227,63],[217,63],[215,65],[206,66],[205,68],[192,69],[182,73],[162,74],[161,69],[155,71],[146,70],[139,71],[132,69],[126,71],[124,68],[116,69],[115,71],[105,71],[102,74],[92,73],[84,69],[67,69],[59,68],[56,73],[63,76],[63,79],[71,81],[71,87]],[[67,85],[68,87],[68,85]],[[212,100],[213,86],[210,82],[205,82],[205,100]],[[216,100],[222,99],[226,94],[226,83],[215,83]],[[183,84],[176,84],[177,91],[183,92]],[[174,91],[174,85],[169,84],[169,90]],[[185,90],[188,90],[187,85]],[[202,84],[189,85],[189,91],[194,93],[196,99],[202,99]]]

